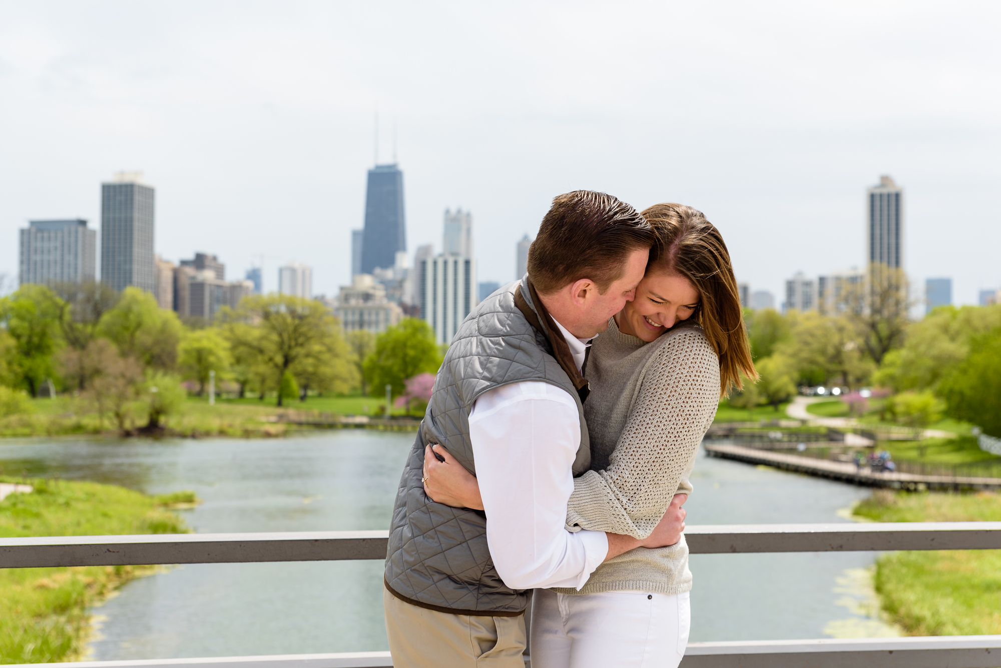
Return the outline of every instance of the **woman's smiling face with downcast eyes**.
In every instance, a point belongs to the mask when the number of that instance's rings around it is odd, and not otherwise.
[[[677,274],[647,274],[636,288],[636,299],[627,302],[616,317],[619,331],[650,342],[688,320],[699,306],[699,291]]]

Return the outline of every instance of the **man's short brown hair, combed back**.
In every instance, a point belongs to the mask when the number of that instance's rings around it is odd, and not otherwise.
[[[654,228],[612,195],[575,190],[553,200],[529,248],[529,277],[542,294],[590,278],[604,294],[626,270],[626,257],[650,248]]]

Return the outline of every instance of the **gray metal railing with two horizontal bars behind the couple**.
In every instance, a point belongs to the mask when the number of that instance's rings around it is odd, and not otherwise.
[[[1001,522],[690,526],[693,554],[1001,549]],[[0,568],[383,559],[385,531],[0,539]],[[76,668],[389,668],[388,652],[90,661]],[[689,643],[684,668],[1001,668],[1001,635]]]

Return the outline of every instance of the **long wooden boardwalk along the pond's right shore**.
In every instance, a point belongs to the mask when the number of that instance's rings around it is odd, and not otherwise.
[[[722,445],[703,442],[710,457],[733,459],[748,464],[774,466],[785,471],[850,482],[863,487],[889,487],[891,489],[1001,489],[1001,478],[969,476],[939,476],[900,473],[897,471],[873,472],[867,467],[859,469],[849,462],[837,462],[815,457],[802,457],[781,452],[769,452],[744,445]]]

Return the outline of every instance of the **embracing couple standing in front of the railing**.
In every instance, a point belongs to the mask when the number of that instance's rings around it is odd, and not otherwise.
[[[557,197],[528,274],[462,322],[392,513],[393,665],[676,667],[681,507],[721,395],[756,377],[726,244],[699,211]]]

